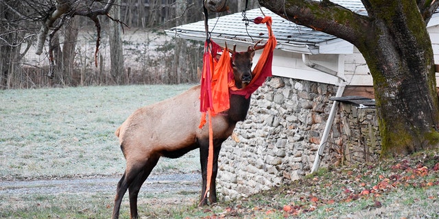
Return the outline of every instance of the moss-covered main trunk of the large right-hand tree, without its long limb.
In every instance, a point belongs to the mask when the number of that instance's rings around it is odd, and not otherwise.
[[[383,155],[413,153],[439,140],[434,53],[422,16],[409,5],[395,14],[383,8],[367,31],[372,43],[358,46],[374,81]]]

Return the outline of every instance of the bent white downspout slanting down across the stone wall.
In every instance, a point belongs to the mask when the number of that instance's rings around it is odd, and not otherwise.
[[[338,85],[338,89],[337,89],[337,93],[335,94],[335,97],[342,96],[344,92],[344,88],[346,88],[346,81],[344,80],[344,78],[338,76],[335,70],[311,62],[311,60],[309,60],[308,54],[302,54],[302,61],[305,65],[309,66],[310,68],[314,68],[316,70],[321,71],[322,73],[327,73],[328,75],[332,75],[340,79],[340,84]],[[327,120],[327,124],[324,127],[322,139],[320,140],[320,145],[318,146],[316,159],[314,159],[314,164],[313,164],[313,168],[311,169],[311,173],[316,172],[318,170],[318,166],[320,165],[320,157],[322,157],[323,155],[324,145],[327,143],[329,131],[331,131],[332,123],[334,122],[335,114],[337,113],[336,111],[337,111],[337,101],[333,101],[331,112],[329,112],[329,118]]]

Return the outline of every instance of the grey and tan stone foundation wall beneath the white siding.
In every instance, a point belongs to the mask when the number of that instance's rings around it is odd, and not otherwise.
[[[223,144],[220,196],[247,196],[308,174],[336,91],[325,83],[268,79],[252,94],[246,120]],[[379,149],[375,109],[340,103],[320,167],[372,161]]]

